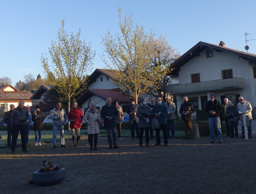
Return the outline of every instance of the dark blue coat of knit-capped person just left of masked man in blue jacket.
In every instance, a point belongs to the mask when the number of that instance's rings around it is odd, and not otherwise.
[[[139,124],[138,127],[143,128],[143,127],[150,127],[150,118],[151,118],[151,108],[148,105],[140,105],[137,108],[137,117],[139,118]],[[143,118],[148,118],[148,123],[147,121]]]

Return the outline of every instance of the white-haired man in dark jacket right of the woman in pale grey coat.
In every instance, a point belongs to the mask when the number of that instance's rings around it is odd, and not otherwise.
[[[107,98],[107,103],[104,105],[100,111],[100,116],[104,119],[104,128],[106,129],[107,136],[108,136],[108,145],[109,149],[119,148],[117,146],[117,122],[116,117],[119,116],[117,107],[111,104],[112,99],[110,97]],[[111,139],[111,130],[113,135],[113,144]]]

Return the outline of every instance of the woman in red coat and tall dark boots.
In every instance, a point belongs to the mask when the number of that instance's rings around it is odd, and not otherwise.
[[[69,111],[68,120],[70,121],[70,129],[72,129],[73,146],[79,145],[80,141],[80,128],[83,123],[83,112],[77,107],[77,102],[73,103],[72,109]]]

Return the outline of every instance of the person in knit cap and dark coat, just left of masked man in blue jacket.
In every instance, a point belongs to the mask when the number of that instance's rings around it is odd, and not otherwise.
[[[146,145],[149,146],[149,127],[150,127],[150,122],[149,118],[151,116],[151,108],[147,105],[147,99],[142,98],[142,103],[137,109],[137,117],[139,118],[139,146],[142,147],[142,142],[143,142],[143,133],[145,129],[146,133]]]

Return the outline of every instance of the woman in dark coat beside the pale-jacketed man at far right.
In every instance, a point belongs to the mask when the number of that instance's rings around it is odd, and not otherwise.
[[[232,102],[228,101],[228,107],[226,108],[226,117],[228,118],[228,125],[230,128],[230,138],[234,138],[234,129],[235,129],[235,136],[238,138],[238,130],[237,130],[237,124],[238,124],[238,111],[237,108],[232,104]]]

